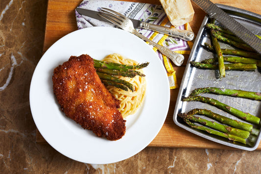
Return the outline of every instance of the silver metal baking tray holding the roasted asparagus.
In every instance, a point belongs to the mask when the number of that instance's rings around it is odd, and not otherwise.
[[[225,12],[227,12],[230,16],[232,16],[237,22],[241,25],[244,25],[254,34],[261,35],[261,15],[238,9],[235,7],[216,4],[218,7],[222,8]],[[261,133],[255,139],[255,143],[253,146],[243,145],[240,143],[232,143],[228,139],[218,137],[207,132],[199,131],[197,129],[193,129],[189,127],[184,121],[177,117],[179,113],[187,113],[192,109],[201,108],[208,109],[220,115],[229,117],[234,120],[237,117],[230,115],[214,106],[211,106],[206,103],[202,103],[200,101],[182,101],[183,98],[188,97],[190,92],[196,88],[203,87],[217,87],[217,88],[227,88],[227,89],[240,89],[245,91],[253,91],[253,92],[261,92],[261,69],[255,71],[226,71],[226,77],[222,79],[218,79],[216,75],[216,71],[214,70],[206,70],[206,69],[197,69],[195,67],[190,66],[190,61],[200,62],[202,60],[212,58],[214,54],[207,50],[204,50],[202,45],[205,42],[211,43],[209,30],[205,28],[205,25],[209,22],[210,18],[206,16],[204,21],[199,29],[198,35],[195,39],[194,46],[191,50],[190,57],[188,60],[188,64],[185,69],[185,73],[182,79],[182,83],[179,89],[179,95],[177,98],[173,120],[174,123],[184,129],[204,137],[206,139],[212,140],[214,142],[227,145],[230,147],[244,149],[244,150],[255,150],[259,146],[261,140]],[[230,49],[230,46],[227,44],[223,44],[220,42],[221,48]],[[231,48],[232,49],[232,48]],[[261,117],[261,101],[255,101],[251,99],[243,99],[243,98],[235,98],[230,96],[222,96],[215,94],[201,94],[200,96],[209,97],[213,99],[217,99],[227,105],[230,105],[238,110],[243,112],[248,112],[254,116]],[[211,120],[204,116],[204,119]],[[240,120],[241,122],[244,122]],[[256,126],[256,128],[260,129],[260,126]]]

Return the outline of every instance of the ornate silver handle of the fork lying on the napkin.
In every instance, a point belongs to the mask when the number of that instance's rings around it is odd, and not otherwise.
[[[164,55],[166,55],[168,58],[170,58],[170,60],[177,66],[181,66],[183,61],[184,61],[184,56],[182,54],[173,52],[172,50],[169,50],[166,47],[163,47],[151,40],[149,40],[148,38],[146,38],[145,36],[143,36],[142,34],[140,34],[138,31],[136,31],[135,29],[132,30],[132,33],[135,34],[136,36],[140,37],[141,39],[149,42],[151,45],[153,45],[154,47],[156,47],[159,51],[161,51],[161,53],[163,53]]]

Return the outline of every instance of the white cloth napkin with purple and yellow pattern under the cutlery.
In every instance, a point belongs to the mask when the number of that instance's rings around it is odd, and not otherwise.
[[[127,1],[118,1],[118,0],[83,0],[81,4],[78,6],[80,8],[85,8],[89,10],[99,11],[101,7],[110,8],[115,10],[124,16],[127,16],[131,19],[141,20],[146,23],[156,24],[156,25],[165,25],[168,27],[173,27],[168,18],[166,17],[166,13],[161,5],[154,5],[148,3],[138,3],[138,2],[127,2]],[[76,22],[78,29],[92,26],[111,26],[116,27],[113,24],[105,23],[88,16],[80,15],[75,10]],[[189,29],[190,25],[182,25],[178,27],[179,29]],[[163,45],[170,50],[181,54],[190,54],[190,50],[192,48],[192,42],[184,41],[179,38],[170,37],[165,34],[160,34],[158,32],[154,32],[146,29],[137,29],[139,33],[149,38],[150,40]],[[169,86],[170,89],[178,88],[176,72],[174,71],[170,60],[156,48],[151,46],[154,51],[156,51],[159,58],[162,60],[166,72],[168,75]]]

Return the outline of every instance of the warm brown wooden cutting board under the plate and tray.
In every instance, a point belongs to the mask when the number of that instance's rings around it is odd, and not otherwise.
[[[48,0],[47,21],[44,49],[45,52],[52,44],[66,34],[77,30],[74,9],[81,3],[82,0]],[[143,3],[160,4],[159,0],[126,0]],[[260,5],[257,5],[256,0],[212,0],[214,3],[221,3],[225,5],[235,6],[254,13],[261,14]],[[193,4],[195,15],[190,26],[195,34],[197,34],[200,25],[205,17],[205,13]],[[185,59],[188,60],[189,56]],[[183,66],[174,69],[177,75],[178,84],[181,83],[182,76],[185,71],[187,62]],[[179,89],[170,90],[169,110],[166,117],[165,124],[157,137],[148,145],[148,147],[170,147],[170,148],[203,148],[203,149],[234,149],[210,140],[204,139],[194,135],[187,130],[177,126],[173,122],[173,112],[175,109],[176,99]],[[46,143],[45,139],[37,130],[37,143]],[[259,145],[258,150],[261,149]]]

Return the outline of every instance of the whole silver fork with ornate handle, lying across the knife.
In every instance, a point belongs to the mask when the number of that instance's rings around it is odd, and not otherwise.
[[[140,37],[142,40],[149,42],[151,45],[156,47],[159,51],[161,51],[164,55],[166,55],[170,60],[177,66],[181,66],[184,61],[184,56],[182,54],[176,53],[172,50],[169,50],[166,47],[163,47],[150,39],[146,38],[142,34],[140,34],[136,29],[133,27],[133,23],[130,19],[125,17],[124,15],[113,11],[108,8],[101,8],[99,11],[99,15],[110,21],[112,24],[119,26],[121,29],[126,30],[136,36]]]

